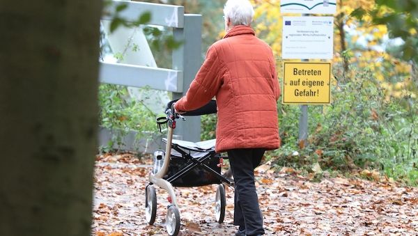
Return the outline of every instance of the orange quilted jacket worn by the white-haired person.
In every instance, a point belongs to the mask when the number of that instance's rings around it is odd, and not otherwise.
[[[272,49],[249,26],[235,26],[208,54],[178,111],[217,100],[217,152],[235,148],[279,148],[279,81]]]

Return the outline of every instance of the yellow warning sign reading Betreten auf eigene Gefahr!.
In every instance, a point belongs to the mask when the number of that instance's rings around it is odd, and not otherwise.
[[[329,104],[331,63],[285,62],[284,104]]]

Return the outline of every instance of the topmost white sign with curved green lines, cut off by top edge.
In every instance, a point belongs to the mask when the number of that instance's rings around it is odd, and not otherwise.
[[[336,0],[281,0],[281,13],[334,14]]]

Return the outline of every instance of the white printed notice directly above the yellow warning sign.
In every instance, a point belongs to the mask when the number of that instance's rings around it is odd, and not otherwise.
[[[284,59],[332,59],[334,17],[283,17]]]

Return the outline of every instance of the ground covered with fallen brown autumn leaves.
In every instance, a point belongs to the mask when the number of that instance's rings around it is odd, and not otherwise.
[[[295,171],[264,164],[256,171],[266,235],[418,235],[418,189],[392,182],[325,178],[310,182]],[[149,159],[100,155],[95,164],[93,230],[96,236],[167,235],[167,193],[157,188],[157,220],[145,221]],[[216,186],[176,188],[180,235],[233,235],[233,189],[226,187],[226,217],[215,222]]]

